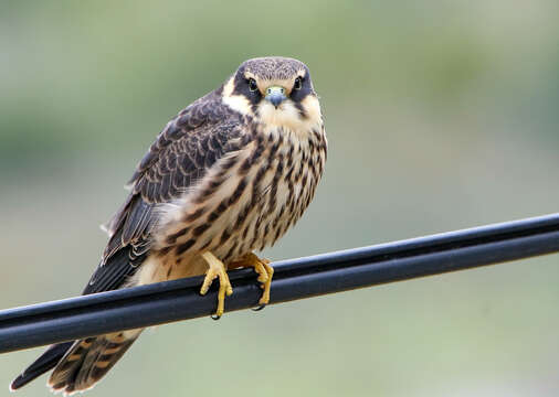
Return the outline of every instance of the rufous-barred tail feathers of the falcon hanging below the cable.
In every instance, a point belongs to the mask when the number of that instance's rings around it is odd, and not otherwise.
[[[49,378],[53,391],[72,394],[92,388],[123,356],[141,330],[76,341]]]

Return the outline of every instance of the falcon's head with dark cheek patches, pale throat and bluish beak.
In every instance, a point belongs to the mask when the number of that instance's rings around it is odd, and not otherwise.
[[[223,101],[260,122],[294,130],[321,120],[308,67],[293,58],[244,62],[225,83]]]

